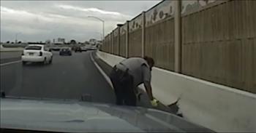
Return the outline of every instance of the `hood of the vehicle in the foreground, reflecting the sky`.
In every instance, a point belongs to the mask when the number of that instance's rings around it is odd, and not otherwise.
[[[160,110],[79,101],[1,99],[1,128],[50,132],[208,132]]]

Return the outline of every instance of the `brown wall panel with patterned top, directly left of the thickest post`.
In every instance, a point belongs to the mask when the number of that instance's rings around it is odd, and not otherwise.
[[[159,68],[174,70],[173,1],[162,1],[145,13],[145,55]]]

